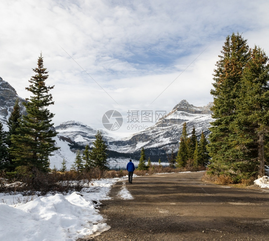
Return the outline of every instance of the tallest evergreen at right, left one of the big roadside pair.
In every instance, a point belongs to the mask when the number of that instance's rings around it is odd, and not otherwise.
[[[214,70],[214,98],[211,123],[209,154],[212,157],[209,165],[210,173],[232,175],[235,173],[234,163],[243,159],[244,155],[238,151],[236,131],[231,123],[236,119],[236,99],[241,88],[243,68],[249,60],[249,47],[240,34],[232,34],[219,55],[220,60]]]

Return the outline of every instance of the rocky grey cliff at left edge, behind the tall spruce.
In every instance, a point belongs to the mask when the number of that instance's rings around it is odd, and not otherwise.
[[[25,107],[22,104],[25,100],[19,97],[16,90],[0,77],[0,120],[5,130],[7,130],[6,122],[10,113],[13,111],[13,106],[17,98],[19,99],[21,112],[26,114]]]

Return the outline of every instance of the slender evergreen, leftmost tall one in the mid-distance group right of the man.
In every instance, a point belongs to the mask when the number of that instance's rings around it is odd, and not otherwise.
[[[186,142],[187,142],[187,127],[186,127],[186,122],[184,122],[183,128],[182,128],[182,134],[180,137],[179,149],[177,152],[176,167],[185,167],[187,163],[188,150],[187,150]]]

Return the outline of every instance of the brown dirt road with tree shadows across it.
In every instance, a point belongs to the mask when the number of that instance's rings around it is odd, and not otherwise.
[[[101,214],[109,231],[84,240],[269,240],[269,190],[201,181],[203,172],[119,181]],[[126,182],[132,200],[117,196]]]

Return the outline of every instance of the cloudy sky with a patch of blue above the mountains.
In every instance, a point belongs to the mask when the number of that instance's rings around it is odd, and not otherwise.
[[[42,52],[54,126],[75,120],[126,136],[182,99],[213,101],[212,74],[233,32],[268,55],[268,11],[262,0],[1,1],[0,77],[29,97]],[[111,130],[103,116],[113,110],[122,120],[110,116],[120,126]]]

